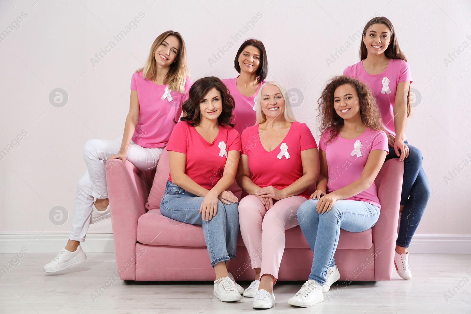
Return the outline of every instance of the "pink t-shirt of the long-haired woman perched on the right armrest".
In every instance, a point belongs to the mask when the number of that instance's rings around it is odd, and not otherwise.
[[[357,64],[349,65],[343,71],[343,75],[348,75],[370,85],[376,97],[384,129],[389,134],[396,136],[393,112],[396,89],[401,82],[409,81],[412,83],[409,64],[401,59],[390,59],[386,70],[379,74],[368,74],[363,67],[363,62],[360,61]]]

